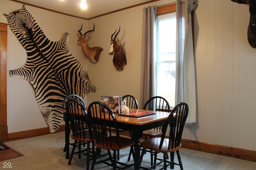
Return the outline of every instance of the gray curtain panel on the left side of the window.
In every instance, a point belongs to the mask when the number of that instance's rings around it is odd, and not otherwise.
[[[155,62],[154,62],[154,31],[156,26],[156,7],[143,9],[142,21],[142,52],[140,73],[140,108],[154,96]]]

